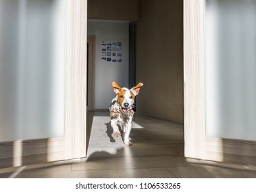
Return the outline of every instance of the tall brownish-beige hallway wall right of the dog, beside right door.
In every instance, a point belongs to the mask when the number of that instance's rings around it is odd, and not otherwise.
[[[137,110],[183,122],[183,1],[139,0]]]

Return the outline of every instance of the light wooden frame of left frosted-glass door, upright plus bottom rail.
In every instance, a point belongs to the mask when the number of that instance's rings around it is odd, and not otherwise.
[[[0,143],[0,168],[86,156],[87,0],[66,0],[65,136]]]

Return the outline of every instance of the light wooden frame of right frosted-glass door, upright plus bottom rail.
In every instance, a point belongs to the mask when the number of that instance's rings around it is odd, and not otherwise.
[[[202,160],[256,165],[256,141],[206,136],[205,1],[183,1],[185,156]]]

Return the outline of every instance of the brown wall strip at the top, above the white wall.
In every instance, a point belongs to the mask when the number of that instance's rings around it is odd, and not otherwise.
[[[138,0],[88,0],[88,19],[137,21]]]

